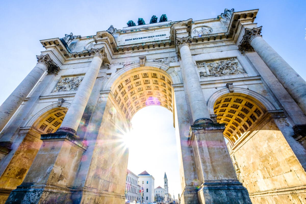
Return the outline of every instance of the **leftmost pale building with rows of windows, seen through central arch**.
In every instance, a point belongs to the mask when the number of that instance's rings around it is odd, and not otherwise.
[[[128,169],[125,182],[125,199],[130,201],[136,199],[139,201],[139,190],[138,176]]]

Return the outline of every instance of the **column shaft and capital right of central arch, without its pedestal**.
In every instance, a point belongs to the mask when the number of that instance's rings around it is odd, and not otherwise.
[[[181,55],[184,90],[188,96],[194,124],[203,123],[205,121],[212,122],[207,109],[198,73],[194,68],[194,62],[189,49],[189,45],[191,43],[190,38],[190,36],[187,38],[176,38],[177,48]]]

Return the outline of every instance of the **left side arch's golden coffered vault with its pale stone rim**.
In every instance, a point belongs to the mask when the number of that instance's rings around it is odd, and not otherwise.
[[[38,111],[26,124],[33,127],[41,134],[54,133],[62,124],[70,103],[64,102],[61,107],[51,104]]]

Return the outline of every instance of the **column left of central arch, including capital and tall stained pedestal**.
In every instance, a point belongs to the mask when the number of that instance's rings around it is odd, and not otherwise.
[[[61,127],[50,134],[41,135],[42,145],[23,183],[9,195],[7,203],[66,203],[77,169],[88,146],[76,138],[85,106],[106,57],[104,48],[91,49],[94,57],[66,113]],[[125,159],[126,160],[126,159]],[[126,160],[127,161],[127,160]],[[53,190],[52,190],[53,189]],[[35,192],[35,193],[34,193]]]

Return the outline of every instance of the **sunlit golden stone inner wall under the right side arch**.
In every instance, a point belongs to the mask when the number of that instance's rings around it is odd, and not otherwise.
[[[306,173],[274,120],[247,134],[233,151],[252,202],[304,203]]]

